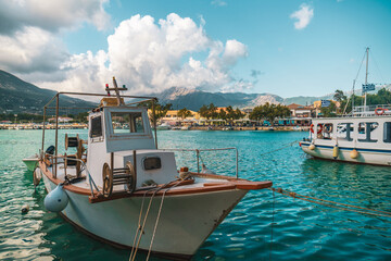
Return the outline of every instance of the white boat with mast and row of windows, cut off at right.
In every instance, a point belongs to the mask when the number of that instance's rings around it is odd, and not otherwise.
[[[367,48],[367,65],[368,51]],[[350,115],[313,119],[310,137],[300,142],[305,153],[327,160],[391,165],[391,107],[366,104],[366,91],[375,89],[367,76],[368,66],[363,85],[364,105],[353,104]]]

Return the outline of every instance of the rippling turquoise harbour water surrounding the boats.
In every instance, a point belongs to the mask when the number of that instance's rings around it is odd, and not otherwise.
[[[86,130],[66,132],[87,135]],[[65,130],[60,135],[61,141],[64,134]],[[53,132],[50,136],[53,140]],[[313,160],[298,145],[262,156],[304,136],[305,133],[162,130],[157,137],[160,148],[237,147],[240,177],[268,179],[275,187],[299,194],[391,211],[390,167]],[[46,212],[43,185],[35,191],[31,174],[22,162],[38,151],[40,141],[40,130],[0,130],[0,259],[128,260],[128,250],[91,239],[58,214]],[[50,144],[53,141],[46,147]],[[195,166],[189,163],[193,153],[180,153],[178,159],[178,166]],[[234,151],[203,152],[202,159],[210,169],[235,175]],[[23,204],[30,207],[25,215],[21,214]],[[140,254],[138,260],[144,258]],[[391,260],[391,217],[329,209],[274,196],[267,189],[251,191],[193,258],[269,259]]]

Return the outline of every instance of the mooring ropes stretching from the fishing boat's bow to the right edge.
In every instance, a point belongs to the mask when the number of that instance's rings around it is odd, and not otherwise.
[[[340,203],[340,202],[336,202],[336,201],[331,201],[331,200],[326,200],[326,199],[320,199],[320,198],[315,198],[315,197],[311,197],[311,196],[297,194],[293,191],[285,190],[282,188],[272,187],[269,189],[273,190],[274,192],[279,192],[281,195],[285,195],[285,196],[288,196],[288,197],[291,197],[294,199],[301,199],[301,200],[304,200],[307,202],[321,204],[321,206],[329,207],[329,208],[340,209],[340,210],[350,211],[350,212],[356,212],[356,213],[361,213],[361,214],[391,217],[391,212],[388,212],[388,211],[374,210],[374,209],[363,208],[363,207],[358,207],[358,206],[354,206],[354,204]]]

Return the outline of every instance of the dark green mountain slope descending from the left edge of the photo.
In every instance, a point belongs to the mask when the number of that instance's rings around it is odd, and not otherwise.
[[[0,113],[42,113],[43,105],[53,98],[56,91],[41,89],[18,77],[0,70]],[[55,107],[55,102],[51,103]],[[60,107],[94,107],[94,103],[67,96],[60,97]],[[83,110],[85,111],[85,110]],[[80,110],[71,110],[71,113]],[[49,113],[54,113],[54,110]]]

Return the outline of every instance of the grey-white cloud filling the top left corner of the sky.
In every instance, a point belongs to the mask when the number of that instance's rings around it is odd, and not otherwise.
[[[13,35],[25,26],[55,33],[61,28],[92,23],[98,29],[110,24],[106,0],[9,0],[0,1],[0,34]]]

